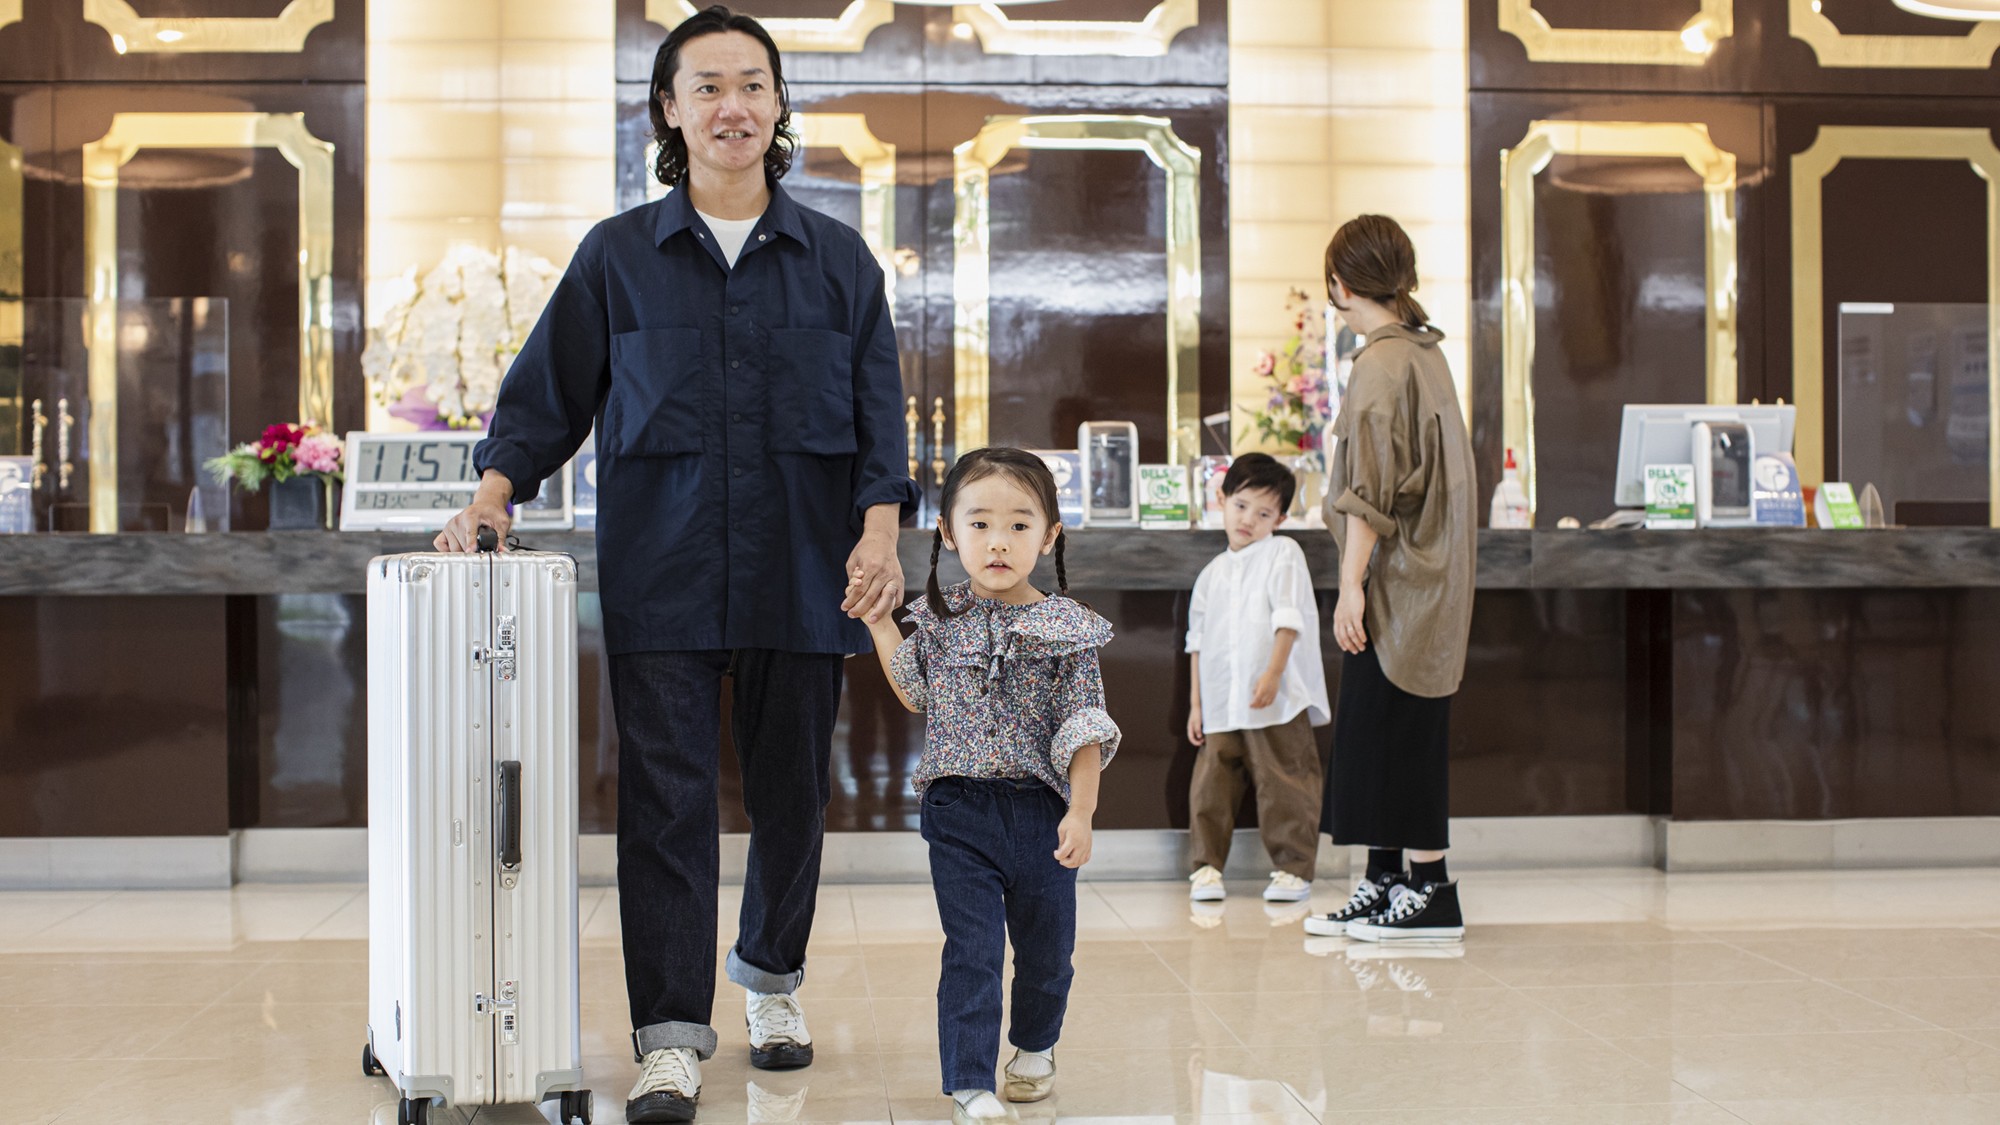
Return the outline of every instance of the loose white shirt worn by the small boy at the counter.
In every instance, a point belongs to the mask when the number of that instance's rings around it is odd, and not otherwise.
[[[1280,629],[1296,629],[1292,657],[1270,707],[1250,707],[1258,677],[1270,667]],[[1272,534],[1242,550],[1224,550],[1194,581],[1188,609],[1188,653],[1202,655],[1202,729],[1258,731],[1310,711],[1310,723],[1332,723],[1326,669],[1320,665],[1320,607],[1312,601],[1306,552],[1290,536]]]

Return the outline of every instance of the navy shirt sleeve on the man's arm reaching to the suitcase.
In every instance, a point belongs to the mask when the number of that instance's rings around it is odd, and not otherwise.
[[[478,472],[500,470],[526,504],[576,456],[610,390],[610,322],[600,300],[604,242],[592,230],[500,380],[494,420],[472,452]]]

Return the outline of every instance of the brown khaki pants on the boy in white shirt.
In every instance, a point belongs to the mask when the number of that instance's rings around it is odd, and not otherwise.
[[[1256,785],[1256,823],[1270,861],[1278,871],[1312,881],[1324,779],[1306,711],[1276,727],[1208,731],[1188,785],[1190,871],[1222,871],[1228,863],[1246,783]]]

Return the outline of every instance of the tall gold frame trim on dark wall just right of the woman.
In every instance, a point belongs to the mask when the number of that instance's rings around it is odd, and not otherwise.
[[[1678,156],[1702,178],[1708,262],[1708,400],[1736,402],[1736,156],[1702,122],[1538,120],[1500,150],[1500,432],[1534,488],[1534,176],[1562,156]]]

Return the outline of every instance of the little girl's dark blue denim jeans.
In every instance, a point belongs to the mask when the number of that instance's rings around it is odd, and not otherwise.
[[[924,791],[930,885],[944,923],[938,1059],[944,1093],[994,1089],[1000,973],[1014,939],[1008,1043],[1048,1051],[1070,1007],[1076,869],[1056,863],[1068,807],[1032,779],[940,777]]]

